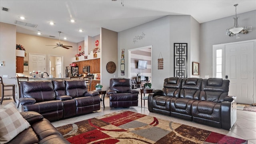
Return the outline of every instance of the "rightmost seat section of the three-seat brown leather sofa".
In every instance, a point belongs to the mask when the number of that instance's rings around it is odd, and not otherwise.
[[[193,121],[221,128],[221,102],[228,97],[229,80],[202,80],[200,100],[192,104]]]

